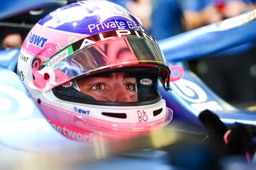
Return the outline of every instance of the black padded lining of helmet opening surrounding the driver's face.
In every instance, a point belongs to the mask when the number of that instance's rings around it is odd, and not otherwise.
[[[61,100],[66,100],[70,102],[78,102],[82,104],[93,104],[93,105],[115,105],[115,106],[134,106],[134,105],[146,105],[154,104],[161,100],[161,94],[157,87],[157,78],[159,75],[158,68],[136,66],[127,68],[112,69],[108,72],[127,72],[132,73],[136,77],[136,90],[138,93],[138,102],[104,102],[100,100],[95,100],[95,98],[90,95],[85,95],[78,91],[74,85],[76,83],[68,83],[69,86],[63,84],[52,89],[52,92],[57,98]],[[100,72],[107,73],[107,72]],[[92,74],[90,76],[95,76],[97,74]],[[78,79],[83,78],[79,77]],[[75,81],[75,80],[73,80]],[[106,115],[109,116],[109,115]],[[115,116],[113,116],[115,117]],[[124,117],[122,117],[124,118]]]

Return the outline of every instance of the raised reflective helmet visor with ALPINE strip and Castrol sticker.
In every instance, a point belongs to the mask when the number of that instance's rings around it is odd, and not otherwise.
[[[170,75],[154,38],[134,30],[108,31],[86,37],[52,56],[44,63],[44,72],[37,71],[47,73],[47,79],[42,77],[46,82],[41,89],[48,90],[76,77],[124,66],[157,67],[163,82],[168,81]]]

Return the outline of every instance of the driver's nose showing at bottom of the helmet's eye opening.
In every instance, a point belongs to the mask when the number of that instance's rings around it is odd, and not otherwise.
[[[111,102],[132,102],[132,98],[123,85],[113,88],[111,94]]]

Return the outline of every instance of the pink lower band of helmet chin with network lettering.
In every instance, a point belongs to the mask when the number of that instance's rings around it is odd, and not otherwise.
[[[153,128],[155,130],[161,129],[172,120],[172,110],[168,108],[166,108],[166,114],[156,121],[149,121],[145,123],[118,123],[93,118],[90,114],[77,114],[75,112],[46,104],[45,102],[41,102],[38,106],[53,126],[56,125],[66,128],[65,134],[61,132],[61,134],[66,136],[68,135],[68,132],[71,133],[72,131],[73,134],[80,133],[90,135],[90,133],[92,133],[97,137],[103,137],[105,140],[127,139],[129,137],[135,137],[136,135],[147,134]],[[54,120],[54,122],[51,122],[51,120]],[[69,138],[77,140],[75,137],[69,136]],[[84,141],[84,139],[80,140],[79,138],[77,141]]]

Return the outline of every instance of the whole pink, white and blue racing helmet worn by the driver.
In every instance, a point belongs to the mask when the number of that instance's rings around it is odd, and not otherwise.
[[[46,15],[26,36],[17,72],[45,118],[70,139],[123,139],[172,120],[157,90],[157,82],[170,86],[159,45],[115,3],[79,1]],[[77,81],[109,73],[132,74],[138,100],[100,101],[81,92]]]

